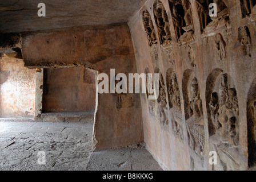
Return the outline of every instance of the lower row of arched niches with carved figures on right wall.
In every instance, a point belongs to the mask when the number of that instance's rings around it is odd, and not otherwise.
[[[150,73],[148,68],[145,69],[145,73]],[[218,151],[221,169],[239,168],[240,163],[236,161],[239,156],[239,106],[237,90],[231,77],[220,69],[214,70],[209,75],[206,85],[207,114],[204,115],[201,91],[193,71],[189,69],[183,75],[182,95],[179,91],[181,87],[172,69],[167,70],[166,86],[158,68],[155,69],[155,73],[159,73],[160,76],[159,97],[157,101],[148,101],[151,117],[164,129],[168,131],[171,129],[170,131],[181,142],[184,142],[184,132],[187,133],[189,147],[203,158],[206,155],[204,117],[207,115],[210,149]],[[254,129],[256,129],[255,103],[252,102],[249,106],[249,109],[252,108]],[[185,111],[185,121],[182,119],[182,108]],[[253,134],[255,138],[256,130]]]

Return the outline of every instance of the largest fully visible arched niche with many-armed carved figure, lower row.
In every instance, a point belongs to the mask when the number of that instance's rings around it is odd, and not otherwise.
[[[231,87],[230,78],[226,73],[222,73],[215,82],[209,108],[215,132],[210,134],[210,142],[219,155],[219,164],[222,164],[219,169],[235,169],[239,166],[238,99],[237,92]]]

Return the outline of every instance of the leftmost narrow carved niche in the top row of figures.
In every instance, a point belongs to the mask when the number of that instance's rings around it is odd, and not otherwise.
[[[149,11],[144,10],[142,13],[143,25],[147,34],[147,40],[149,41],[149,46],[157,44],[157,37],[155,36],[155,29]]]

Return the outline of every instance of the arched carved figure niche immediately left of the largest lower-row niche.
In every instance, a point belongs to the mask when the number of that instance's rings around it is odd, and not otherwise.
[[[205,156],[202,100],[198,80],[191,69],[187,69],[183,73],[182,92],[188,144],[190,150],[195,154],[194,156],[202,159]]]

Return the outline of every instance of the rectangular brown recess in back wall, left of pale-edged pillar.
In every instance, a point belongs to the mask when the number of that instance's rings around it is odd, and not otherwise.
[[[95,76],[90,69],[45,69],[43,113],[78,113],[95,109]]]

